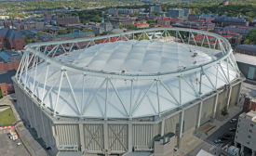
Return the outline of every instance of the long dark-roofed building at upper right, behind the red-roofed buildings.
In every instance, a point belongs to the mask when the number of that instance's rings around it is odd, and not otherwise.
[[[240,26],[249,26],[249,21],[246,18],[237,18],[237,17],[227,17],[226,15],[222,15],[216,17],[213,22],[217,26],[229,26],[229,25],[240,25]]]

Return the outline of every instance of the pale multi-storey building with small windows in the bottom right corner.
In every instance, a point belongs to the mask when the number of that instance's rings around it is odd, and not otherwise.
[[[240,147],[241,153],[247,148],[251,151],[251,156],[256,155],[256,111],[250,110],[239,115],[235,146]]]

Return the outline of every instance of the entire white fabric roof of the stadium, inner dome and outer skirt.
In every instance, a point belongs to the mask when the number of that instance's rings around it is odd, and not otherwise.
[[[220,50],[206,47],[129,40],[93,45],[54,59],[96,71],[160,73],[198,66],[219,57],[222,57]],[[223,72],[229,74],[229,81],[236,79],[236,70],[227,61],[204,69],[205,74],[201,77],[201,95],[209,94],[216,88],[228,84]],[[47,63],[43,62],[38,65],[37,71],[34,68],[23,73],[21,80],[26,82],[25,74],[28,74],[27,87],[31,91],[34,90],[35,96],[41,99],[47,108],[56,109],[56,112],[63,116],[88,118],[155,116],[195,100],[199,96],[199,71],[182,75],[181,80],[178,77],[165,77],[160,81],[136,78],[131,81],[112,78],[111,74],[106,79],[106,77],[82,75],[74,71],[66,71],[66,73],[63,74],[58,105],[56,101],[61,68],[49,64],[47,73]],[[43,97],[45,81],[46,94]]]

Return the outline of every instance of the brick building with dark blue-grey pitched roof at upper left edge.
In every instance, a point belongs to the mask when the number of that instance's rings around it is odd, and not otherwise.
[[[8,48],[8,49],[15,49],[21,50],[25,46],[25,41],[23,36],[20,32],[3,28],[0,29],[0,48]]]

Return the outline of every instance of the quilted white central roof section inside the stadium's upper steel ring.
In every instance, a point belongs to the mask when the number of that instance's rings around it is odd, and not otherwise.
[[[57,59],[95,71],[158,73],[202,65],[217,59],[215,56],[220,53],[218,50],[204,49],[177,43],[129,40],[94,45]]]

